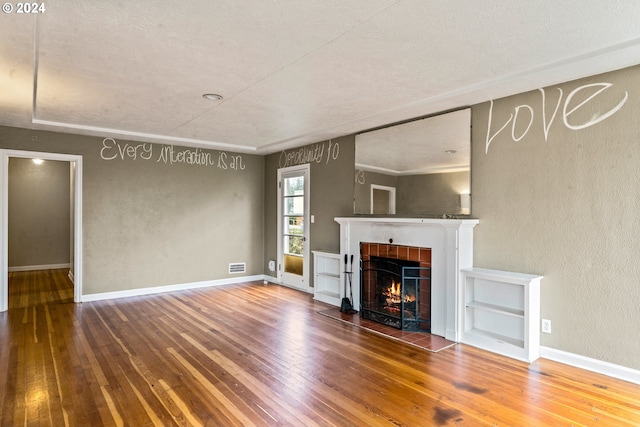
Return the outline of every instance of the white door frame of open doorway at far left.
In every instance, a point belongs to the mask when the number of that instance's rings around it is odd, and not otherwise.
[[[82,156],[0,149],[0,312],[9,308],[9,158],[69,162],[73,199],[73,301],[82,302]]]

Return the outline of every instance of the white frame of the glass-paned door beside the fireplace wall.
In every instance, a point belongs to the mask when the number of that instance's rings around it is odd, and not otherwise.
[[[289,166],[286,168],[280,168],[278,169],[278,228],[277,228],[277,233],[278,233],[278,268],[277,268],[277,278],[278,278],[278,282],[282,285],[285,286],[291,286],[291,285],[286,285],[283,281],[283,274],[284,274],[284,245],[282,242],[282,234],[283,234],[283,223],[282,223],[282,216],[283,216],[283,209],[282,209],[282,196],[283,196],[283,188],[282,188],[282,181],[283,178],[285,178],[287,175],[291,175],[291,174],[295,174],[296,172],[301,172],[304,173],[305,179],[304,179],[304,214],[303,214],[303,221],[304,221],[304,253],[303,253],[303,261],[302,261],[302,283],[303,286],[302,287],[297,287],[297,286],[293,286],[295,289],[304,291],[304,292],[308,292],[308,293],[313,293],[313,287],[311,287],[311,282],[309,281],[309,266],[310,266],[310,257],[311,257],[311,239],[310,239],[310,230],[309,230],[309,225],[311,224],[309,221],[310,218],[310,207],[311,207],[311,167],[309,165],[309,163],[305,163],[302,165],[298,165],[298,166]]]

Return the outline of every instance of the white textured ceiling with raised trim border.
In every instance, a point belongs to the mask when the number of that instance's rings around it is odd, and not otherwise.
[[[640,63],[640,1],[45,7],[0,16],[0,124],[246,153]]]

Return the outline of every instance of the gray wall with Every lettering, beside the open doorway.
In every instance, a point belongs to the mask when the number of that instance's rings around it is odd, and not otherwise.
[[[264,157],[243,154],[234,169],[232,153],[199,150],[215,159],[203,166],[182,161],[196,149],[174,147],[171,163],[161,157],[171,146],[104,144],[0,127],[2,148],[83,156],[84,294],[237,277],[232,262],[263,273]],[[135,158],[121,158],[127,144]]]

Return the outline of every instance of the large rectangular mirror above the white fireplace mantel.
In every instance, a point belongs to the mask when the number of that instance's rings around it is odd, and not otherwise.
[[[356,135],[354,214],[471,213],[471,109]]]

